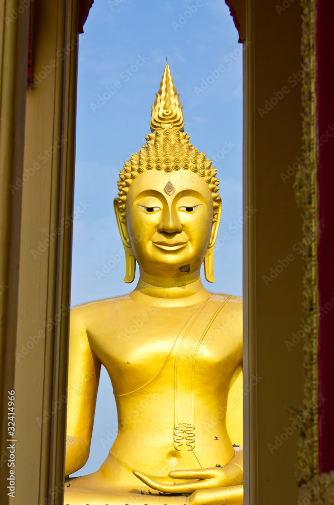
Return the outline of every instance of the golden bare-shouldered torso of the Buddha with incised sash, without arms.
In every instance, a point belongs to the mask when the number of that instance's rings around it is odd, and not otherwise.
[[[171,470],[224,466],[234,455],[226,412],[242,361],[240,302],[211,295],[161,308],[127,295],[74,309],[116,397],[119,433],[102,467],[108,484],[119,482],[119,462],[128,467],[122,481],[138,485],[131,469],[168,480]],[[187,425],[176,431],[178,423]]]

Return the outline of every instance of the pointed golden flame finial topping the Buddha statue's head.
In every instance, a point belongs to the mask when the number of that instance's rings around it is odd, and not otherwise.
[[[151,132],[165,128],[184,131],[182,105],[167,63],[152,106],[150,127]]]

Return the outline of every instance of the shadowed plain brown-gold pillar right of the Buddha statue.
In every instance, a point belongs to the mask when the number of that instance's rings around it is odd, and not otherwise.
[[[301,14],[298,3],[281,15],[276,5],[273,0],[248,3],[245,63],[245,205],[256,209],[244,234],[245,247],[248,244],[244,255],[246,342],[249,332],[245,360],[249,375],[261,377],[250,390],[249,404],[246,402],[252,505],[298,501],[294,476],[297,430],[291,428],[286,406],[302,405],[303,342],[289,350],[285,341],[291,341],[293,333],[301,329],[302,262],[294,250],[301,240],[301,216],[294,177],[284,183],[280,174],[287,173],[288,165],[301,154],[301,81],[293,86],[291,78],[301,68]],[[268,112],[263,113],[259,109],[265,110],[265,105]],[[276,275],[272,280],[270,272]]]

